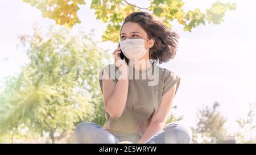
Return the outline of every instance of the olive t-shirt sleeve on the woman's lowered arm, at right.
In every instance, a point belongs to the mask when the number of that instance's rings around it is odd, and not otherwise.
[[[167,73],[164,76],[163,94],[170,90],[175,83],[177,83],[177,85],[174,96],[176,95],[177,89],[180,86],[180,76],[170,70],[167,70]]]

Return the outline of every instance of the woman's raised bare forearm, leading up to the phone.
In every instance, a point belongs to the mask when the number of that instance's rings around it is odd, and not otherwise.
[[[129,73],[129,70],[126,70]],[[119,74],[117,84],[115,85],[115,89],[110,95],[110,97],[106,100],[106,110],[112,116],[112,118],[119,118],[123,110],[125,109],[127,94],[129,87],[129,79],[128,75],[123,73]]]

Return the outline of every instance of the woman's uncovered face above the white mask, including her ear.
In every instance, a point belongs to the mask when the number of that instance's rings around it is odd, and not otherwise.
[[[146,31],[143,30],[138,23],[127,22],[123,25],[121,30],[121,40],[128,39],[148,39]],[[154,45],[154,40],[146,40],[144,41],[145,48],[151,48]]]

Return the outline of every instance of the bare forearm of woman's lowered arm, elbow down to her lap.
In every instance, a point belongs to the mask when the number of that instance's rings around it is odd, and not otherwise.
[[[137,143],[146,143],[148,139],[154,136],[156,133],[160,132],[164,127],[164,123],[162,122],[151,122],[146,131],[144,132],[143,136]]]

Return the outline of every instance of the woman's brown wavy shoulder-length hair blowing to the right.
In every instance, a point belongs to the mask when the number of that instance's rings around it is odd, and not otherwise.
[[[149,55],[151,59],[158,59],[159,64],[162,64],[162,62],[167,62],[174,58],[179,35],[174,31],[168,30],[159,18],[148,12],[133,12],[126,16],[122,27],[127,22],[138,23],[146,31],[148,38],[155,40],[153,47],[150,48]]]

